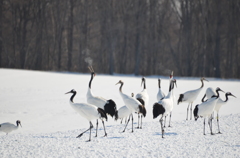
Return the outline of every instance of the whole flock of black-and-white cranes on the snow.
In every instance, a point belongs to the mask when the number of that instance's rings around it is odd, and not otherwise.
[[[119,86],[119,93],[120,96],[125,103],[124,106],[119,108],[117,110],[116,103],[112,99],[105,99],[103,97],[95,96],[92,93],[92,81],[95,77],[95,72],[92,67],[89,67],[89,70],[91,72],[91,78],[88,85],[88,91],[87,91],[87,103],[74,103],[74,97],[76,96],[77,92],[72,89],[71,91],[65,93],[65,94],[71,94],[69,103],[71,107],[79,113],[82,117],[86,118],[89,121],[89,129],[86,131],[80,133],[77,138],[81,137],[84,133],[87,131],[89,132],[89,140],[91,141],[91,130],[93,128],[92,121],[96,120],[96,135],[97,137],[97,130],[98,130],[98,120],[100,119],[103,124],[104,128],[104,137],[107,136],[106,128],[104,121],[108,120],[108,116],[111,116],[115,120],[121,119],[121,122],[123,119],[125,119],[125,127],[122,132],[125,132],[126,127],[128,126],[128,123],[130,120],[132,120],[132,132],[134,132],[133,127],[133,114],[136,113],[138,115],[138,129],[142,129],[142,117],[145,117],[147,114],[146,106],[149,106],[149,95],[147,92],[146,87],[146,79],[142,77],[142,83],[143,90],[136,94],[134,97],[134,94],[127,95],[123,93],[123,85],[124,82],[120,80],[116,83],[116,85]],[[204,87],[204,81],[206,80],[204,77],[200,79],[201,81],[201,87],[195,90],[189,90],[185,93],[182,93],[179,95],[177,104],[186,102],[188,103],[187,108],[187,118],[188,120],[188,114],[190,114],[190,119],[192,119],[192,113],[194,114],[195,120],[197,120],[199,117],[204,118],[204,126],[203,126],[203,134],[205,135],[205,119],[208,118],[208,124],[211,131],[211,134],[214,134],[212,132],[212,119],[213,119],[213,113],[214,111],[217,112],[217,123],[218,123],[218,133],[220,132],[219,127],[219,110],[222,107],[222,105],[226,104],[228,101],[229,96],[235,97],[230,92],[225,93],[226,99],[222,100],[219,98],[219,92],[223,92],[220,88],[216,88],[214,90],[213,88],[208,88],[206,90],[206,94],[202,98],[202,103],[195,106],[194,111],[192,112],[192,104],[198,97],[199,93]],[[177,81],[173,78],[173,72],[170,75],[169,79],[169,91],[167,95],[164,94],[164,92],[161,89],[161,79],[158,79],[158,93],[157,93],[157,101],[154,103],[152,108],[152,115],[153,119],[160,118],[160,126],[161,126],[161,132],[162,132],[162,138],[164,138],[164,128],[166,128],[166,118],[169,116],[169,126],[171,127],[171,116],[172,116],[172,110],[174,107],[174,95],[173,91],[174,88],[177,87]],[[207,100],[204,100],[207,97]],[[190,112],[189,112],[190,108]],[[165,121],[163,121],[165,119]],[[21,126],[21,123],[19,120],[17,120],[16,125],[11,123],[2,123],[0,124],[0,131],[5,132],[8,134],[9,132],[18,129],[19,125]]]

